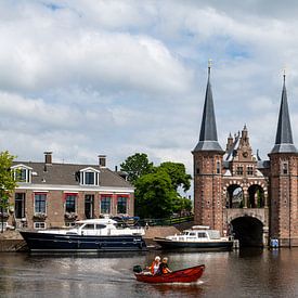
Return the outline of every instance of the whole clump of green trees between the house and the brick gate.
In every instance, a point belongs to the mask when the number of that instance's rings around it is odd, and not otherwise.
[[[187,191],[192,177],[179,163],[163,163],[154,167],[146,154],[137,153],[121,164],[135,186],[135,215],[141,218],[166,218],[173,212],[191,211],[192,202],[182,197],[179,187]]]

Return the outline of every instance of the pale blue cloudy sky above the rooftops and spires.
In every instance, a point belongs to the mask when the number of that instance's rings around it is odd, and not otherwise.
[[[298,3],[1,0],[0,150],[114,169],[145,153],[183,163],[211,85],[219,143],[247,126],[268,159],[286,69],[298,145]]]

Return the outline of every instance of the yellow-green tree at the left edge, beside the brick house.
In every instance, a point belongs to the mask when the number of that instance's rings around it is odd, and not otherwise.
[[[10,196],[16,187],[16,181],[11,172],[12,161],[15,156],[8,151],[0,153],[0,211],[3,232],[3,217],[4,212],[10,207]]]

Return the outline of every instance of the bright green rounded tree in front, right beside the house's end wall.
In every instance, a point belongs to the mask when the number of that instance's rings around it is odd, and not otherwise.
[[[140,177],[135,182],[135,213],[142,218],[166,218],[172,213],[177,196],[168,173],[158,171]]]

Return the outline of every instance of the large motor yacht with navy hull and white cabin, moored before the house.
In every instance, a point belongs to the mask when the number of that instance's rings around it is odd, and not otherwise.
[[[77,221],[72,229],[49,229],[20,232],[34,252],[100,252],[147,250],[144,229],[119,226],[112,219]]]

